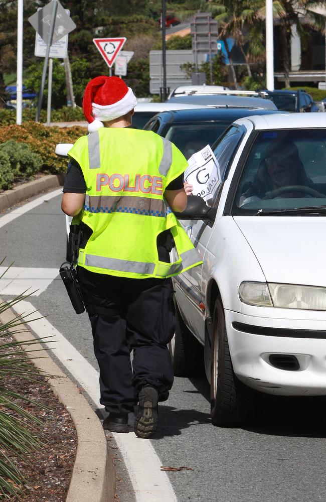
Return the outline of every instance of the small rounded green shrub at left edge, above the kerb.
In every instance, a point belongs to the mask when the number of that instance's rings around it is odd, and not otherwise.
[[[41,157],[32,152],[25,143],[17,143],[14,140],[6,141],[0,145],[0,153],[6,153],[9,156],[15,177],[30,177],[42,168]]]

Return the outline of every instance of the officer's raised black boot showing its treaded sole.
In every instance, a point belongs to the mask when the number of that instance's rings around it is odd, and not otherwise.
[[[149,438],[157,427],[158,393],[156,389],[145,386],[138,396],[139,408],[135,417],[135,434],[138,438]]]

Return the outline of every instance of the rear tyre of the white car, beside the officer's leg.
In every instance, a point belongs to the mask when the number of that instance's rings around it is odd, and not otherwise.
[[[175,376],[203,376],[204,348],[189,331],[176,306],[176,331],[169,343]]]

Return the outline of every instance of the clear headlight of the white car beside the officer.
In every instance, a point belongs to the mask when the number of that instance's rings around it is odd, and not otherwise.
[[[243,303],[258,307],[326,310],[326,288],[245,281],[239,286]]]

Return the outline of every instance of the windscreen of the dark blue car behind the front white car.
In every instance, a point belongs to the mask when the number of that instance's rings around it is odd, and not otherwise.
[[[181,150],[186,159],[189,159],[206,145],[212,146],[230,123],[211,121],[175,124],[170,127],[166,138]]]

